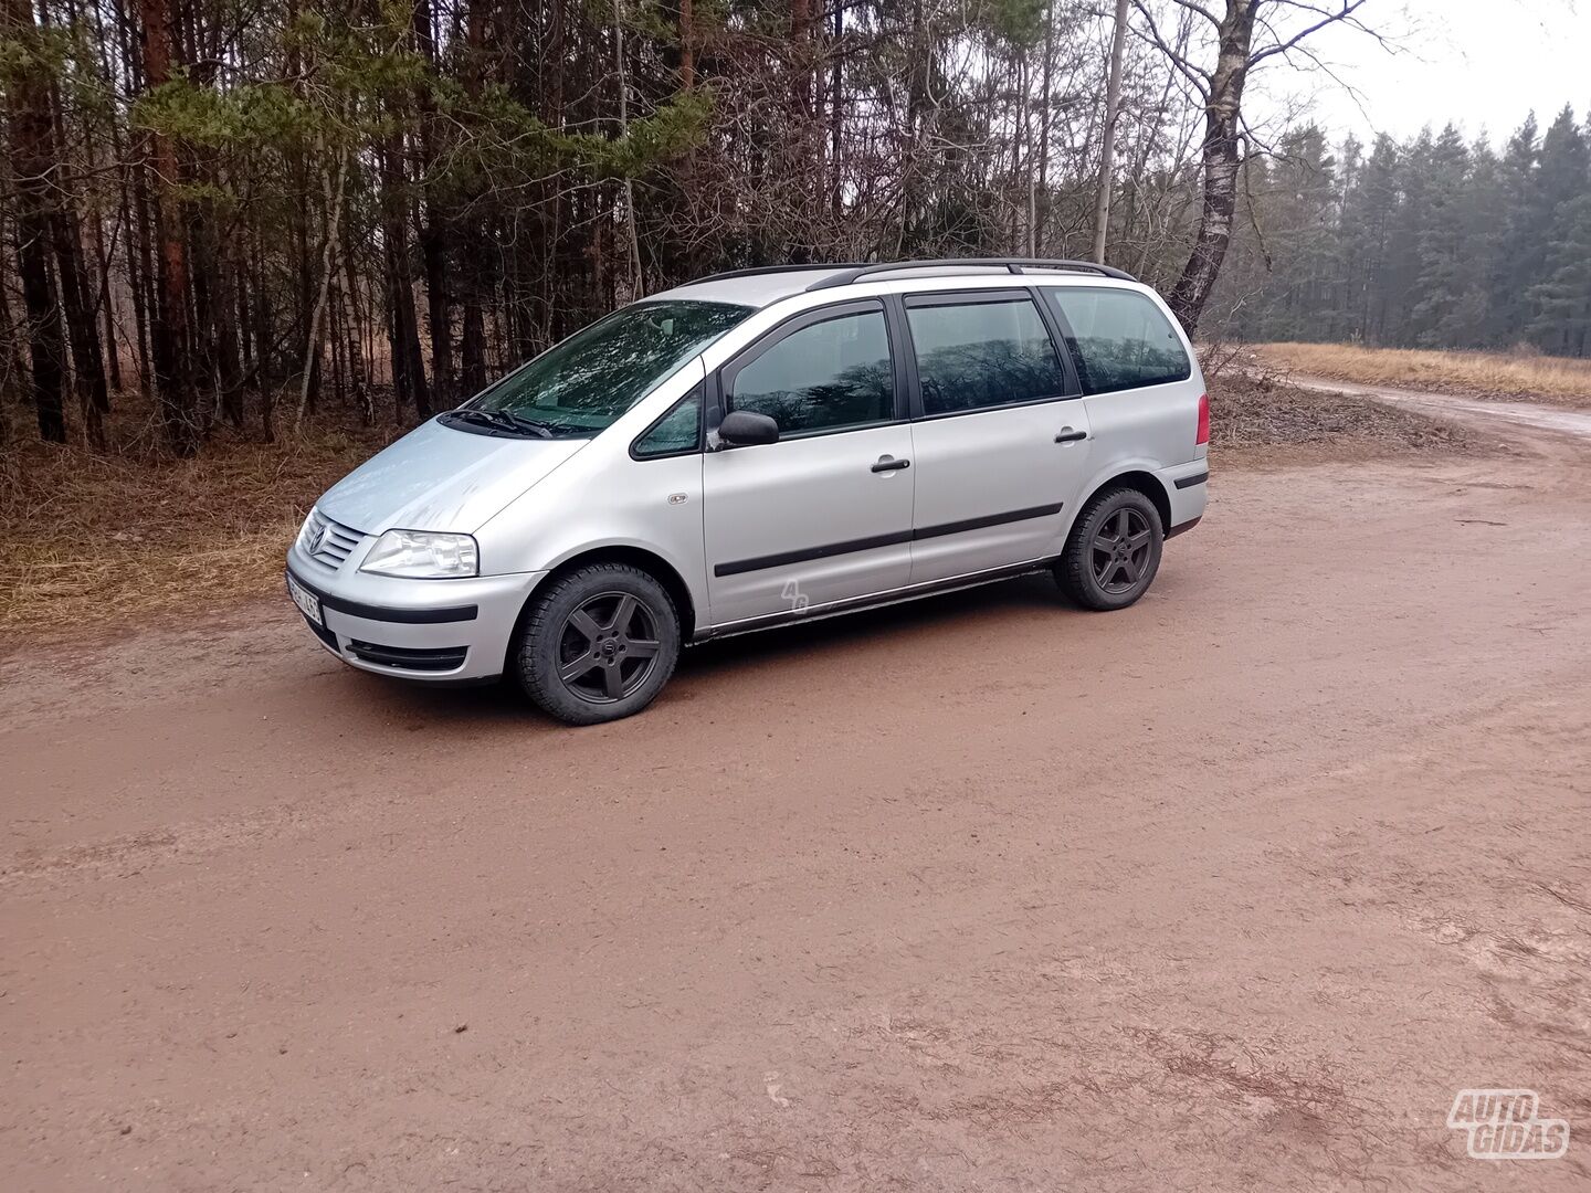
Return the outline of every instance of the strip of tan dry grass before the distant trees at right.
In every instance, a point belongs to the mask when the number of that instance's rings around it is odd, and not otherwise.
[[[1258,344],[1254,353],[1273,369],[1360,385],[1591,406],[1591,359],[1529,352],[1362,348],[1352,344]]]

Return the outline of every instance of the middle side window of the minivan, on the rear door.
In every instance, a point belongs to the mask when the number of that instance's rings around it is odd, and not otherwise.
[[[923,414],[1012,406],[1066,393],[1066,374],[1026,294],[985,302],[907,299]]]

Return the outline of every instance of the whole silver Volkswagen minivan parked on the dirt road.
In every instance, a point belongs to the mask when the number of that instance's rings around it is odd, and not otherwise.
[[[1209,402],[1153,290],[1074,261],[789,266],[630,304],[337,482],[288,552],[352,666],[636,713],[708,638],[1052,571],[1149,589]]]

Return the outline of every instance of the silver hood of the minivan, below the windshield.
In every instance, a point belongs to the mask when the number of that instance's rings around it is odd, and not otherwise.
[[[587,442],[471,434],[433,418],[348,472],[315,504],[366,534],[393,528],[468,534]]]

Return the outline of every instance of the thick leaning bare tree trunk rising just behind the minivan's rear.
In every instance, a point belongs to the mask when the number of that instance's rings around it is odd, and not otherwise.
[[[1243,84],[1249,76],[1255,10],[1252,0],[1227,0],[1227,16],[1220,22],[1219,52],[1204,110],[1204,204],[1193,253],[1168,299],[1188,336],[1198,328],[1200,315],[1220,275],[1227,245],[1231,243],[1231,216],[1238,210],[1239,113]]]

